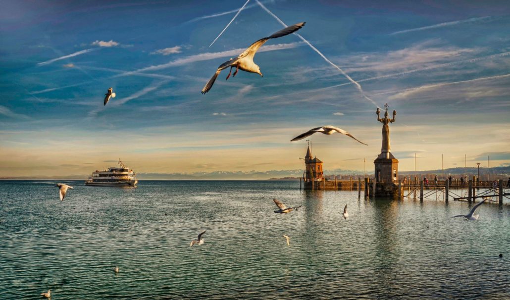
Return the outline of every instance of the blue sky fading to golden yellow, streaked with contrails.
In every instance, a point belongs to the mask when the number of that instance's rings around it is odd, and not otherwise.
[[[2,1],[0,178],[373,169],[388,103],[399,169],[510,165],[503,1]],[[264,6],[265,9],[262,7]],[[264,77],[216,71],[252,42]],[[224,32],[218,37],[220,32]],[[211,45],[211,46],[210,46]],[[103,105],[113,87],[116,97]]]

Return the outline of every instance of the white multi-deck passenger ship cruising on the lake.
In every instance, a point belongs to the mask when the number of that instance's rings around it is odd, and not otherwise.
[[[103,171],[96,170],[85,181],[85,185],[93,186],[136,186],[135,172],[129,167],[126,167],[119,159],[120,168],[111,167]]]

